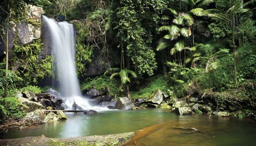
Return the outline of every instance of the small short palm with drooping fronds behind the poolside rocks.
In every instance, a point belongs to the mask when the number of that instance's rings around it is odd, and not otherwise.
[[[109,68],[108,70],[106,70],[106,72],[104,73],[104,75],[106,74],[111,74],[110,79],[119,76],[121,79],[121,85],[120,85],[120,90],[122,90],[122,88],[124,88],[124,90],[126,90],[126,94],[127,97],[130,97],[129,94],[129,86],[127,85],[128,82],[130,82],[130,77],[134,77],[136,78],[137,75],[135,72],[133,72],[132,70],[128,70],[128,69],[119,69],[119,68]],[[125,89],[125,85],[126,85],[126,89]]]

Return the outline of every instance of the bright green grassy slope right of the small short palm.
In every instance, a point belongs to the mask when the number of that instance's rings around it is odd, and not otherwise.
[[[137,98],[147,98],[152,95],[155,91],[158,89],[166,92],[169,87],[168,80],[163,76],[154,76],[151,78],[146,79],[143,84],[139,84],[138,91],[132,91],[131,92],[131,98],[137,99]]]

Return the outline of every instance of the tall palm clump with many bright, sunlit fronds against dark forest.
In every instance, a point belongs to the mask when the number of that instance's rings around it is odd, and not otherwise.
[[[180,8],[177,12],[173,8],[167,8],[166,10],[169,11],[174,19],[172,20],[173,25],[168,26],[166,24],[169,23],[169,20],[171,19],[171,16],[169,15],[163,15],[161,17],[163,26],[158,28],[158,31],[168,31],[169,34],[166,34],[162,39],[159,40],[157,50],[162,50],[167,47],[170,47],[171,41],[178,39],[179,37],[183,37],[183,39],[191,36],[191,26],[194,23],[192,15],[196,16],[203,16],[203,9],[202,8],[195,8],[191,9],[188,13],[181,11],[181,2],[191,5],[193,8],[194,5],[200,2],[200,0],[197,0],[194,2],[193,0],[180,0]],[[192,14],[192,15],[191,15]],[[186,49],[189,49],[188,47],[185,47],[184,40],[182,38],[179,39],[178,42],[174,44],[174,47],[171,49],[170,54],[174,55],[175,60],[176,56],[175,53],[178,52],[178,62],[182,66],[181,62],[181,51],[184,50],[184,62],[185,62],[185,56],[186,56]],[[186,41],[186,39],[185,39]]]

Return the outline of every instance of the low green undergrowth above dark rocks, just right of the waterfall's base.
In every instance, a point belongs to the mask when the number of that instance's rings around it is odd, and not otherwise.
[[[101,90],[104,87],[108,86],[110,89],[110,95],[118,95],[119,93],[119,84],[118,80],[115,78],[110,79],[109,77],[106,76],[99,76],[95,78],[85,78],[80,85],[80,89],[83,91],[85,89],[90,89],[93,86],[95,89]]]

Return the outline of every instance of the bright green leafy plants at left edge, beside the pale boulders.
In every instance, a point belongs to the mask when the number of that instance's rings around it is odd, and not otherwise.
[[[20,118],[26,115],[26,112],[22,110],[24,105],[20,104],[15,97],[6,97],[0,99],[0,118],[4,117],[16,117]]]

